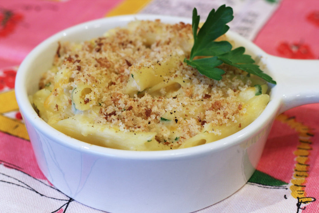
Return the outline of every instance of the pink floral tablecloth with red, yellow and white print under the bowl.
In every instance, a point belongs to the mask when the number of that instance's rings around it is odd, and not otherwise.
[[[171,4],[168,13],[174,15],[174,0],[155,1],[0,0],[0,212],[101,212],[61,193],[39,170],[15,101],[16,71],[37,44],[72,25],[109,15],[149,12],[143,9],[150,4],[162,5],[163,11]],[[272,55],[319,59],[319,1],[261,1],[276,4],[276,9],[253,42]],[[209,1],[186,2],[210,5]],[[319,72],[319,67],[314,68]],[[249,182],[198,212],[315,213],[319,212],[318,183],[319,104],[311,104],[279,115]]]

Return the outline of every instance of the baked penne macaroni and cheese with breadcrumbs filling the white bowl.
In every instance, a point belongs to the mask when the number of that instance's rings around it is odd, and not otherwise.
[[[192,45],[190,24],[159,20],[59,43],[33,104],[55,129],[110,148],[166,150],[224,138],[259,116],[267,85],[228,65],[219,66],[220,81],[201,75],[183,62]]]

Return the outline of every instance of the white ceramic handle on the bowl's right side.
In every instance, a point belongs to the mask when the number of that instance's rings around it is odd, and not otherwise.
[[[279,113],[304,104],[319,103],[319,60],[267,57],[272,76],[277,81],[273,88],[281,95]],[[280,97],[279,97],[280,98]]]

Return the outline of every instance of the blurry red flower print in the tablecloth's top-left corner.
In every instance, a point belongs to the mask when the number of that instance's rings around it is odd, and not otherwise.
[[[5,37],[12,33],[22,19],[23,15],[20,13],[0,9],[0,37]]]

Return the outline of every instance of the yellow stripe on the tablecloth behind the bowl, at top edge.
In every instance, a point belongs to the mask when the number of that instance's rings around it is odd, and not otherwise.
[[[151,0],[124,0],[114,9],[109,11],[105,16],[117,16],[138,13],[142,10]]]

